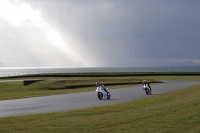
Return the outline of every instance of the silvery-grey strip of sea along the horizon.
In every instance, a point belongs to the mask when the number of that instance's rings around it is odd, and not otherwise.
[[[200,72],[200,66],[187,67],[0,67],[0,77],[12,77],[27,74],[45,73],[95,73],[95,72]]]

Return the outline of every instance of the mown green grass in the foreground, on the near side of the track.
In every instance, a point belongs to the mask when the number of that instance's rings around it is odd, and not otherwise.
[[[199,88],[196,85],[105,107],[0,118],[0,132],[198,133]]]

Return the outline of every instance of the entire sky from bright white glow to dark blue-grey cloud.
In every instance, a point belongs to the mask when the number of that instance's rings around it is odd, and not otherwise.
[[[1,0],[0,67],[200,66],[199,0]]]

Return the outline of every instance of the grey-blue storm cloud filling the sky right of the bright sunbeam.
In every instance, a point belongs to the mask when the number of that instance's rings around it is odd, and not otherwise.
[[[199,0],[24,2],[97,66],[200,64]]]

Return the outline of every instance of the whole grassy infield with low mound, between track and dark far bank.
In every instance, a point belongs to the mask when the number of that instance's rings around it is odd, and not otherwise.
[[[24,78],[19,79],[23,80]],[[39,77],[25,79],[39,79]],[[0,100],[94,91],[96,81],[107,83],[109,89],[116,89],[135,86],[135,82],[141,83],[143,79],[148,82],[158,80],[200,81],[200,76],[40,77],[40,79],[45,81],[28,86],[23,86],[23,82],[0,82]],[[113,86],[109,83],[118,85]],[[70,86],[75,88],[72,89]]]

